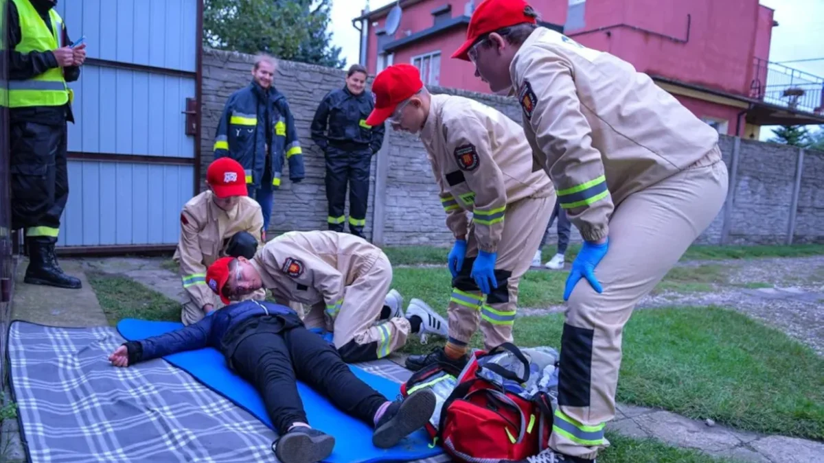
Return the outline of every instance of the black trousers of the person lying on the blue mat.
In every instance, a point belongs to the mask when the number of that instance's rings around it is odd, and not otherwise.
[[[386,397],[354,376],[339,353],[321,336],[304,327],[280,333],[265,324],[237,345],[232,367],[263,396],[266,412],[278,433],[293,423],[309,423],[295,380],[304,381],[335,407],[372,424]],[[309,423],[311,424],[311,423]]]

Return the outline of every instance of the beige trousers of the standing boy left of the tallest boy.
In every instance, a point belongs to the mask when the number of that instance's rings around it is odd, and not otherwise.
[[[541,244],[541,237],[555,207],[555,193],[541,198],[524,198],[507,204],[503,219],[503,234],[498,245],[495,277],[498,288],[492,288],[486,300],[471,278],[472,264],[478,255],[475,227],[470,224],[466,240],[466,258],[461,271],[452,280],[449,299],[449,341],[466,346],[472,334],[484,334],[485,348],[491,349],[512,342],[517,311],[517,288],[527,273],[532,255]]]

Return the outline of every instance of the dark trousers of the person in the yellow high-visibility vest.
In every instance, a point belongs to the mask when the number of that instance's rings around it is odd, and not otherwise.
[[[56,239],[68,201],[66,123],[12,122],[9,130],[12,229]]]

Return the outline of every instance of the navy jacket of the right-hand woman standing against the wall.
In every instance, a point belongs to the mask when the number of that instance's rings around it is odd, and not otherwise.
[[[376,127],[366,124],[366,118],[375,107],[371,91],[353,95],[343,87],[326,94],[315,111],[311,123],[311,138],[325,152],[331,145],[346,150],[381,149],[383,124]],[[328,125],[328,129],[327,129]]]

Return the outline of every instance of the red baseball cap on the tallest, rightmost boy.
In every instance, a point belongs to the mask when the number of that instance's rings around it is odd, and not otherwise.
[[[466,28],[466,42],[452,54],[452,58],[469,61],[468,52],[475,40],[504,27],[530,22],[537,24],[534,17],[527,15],[529,4],[524,0],[484,0],[475,8]]]

